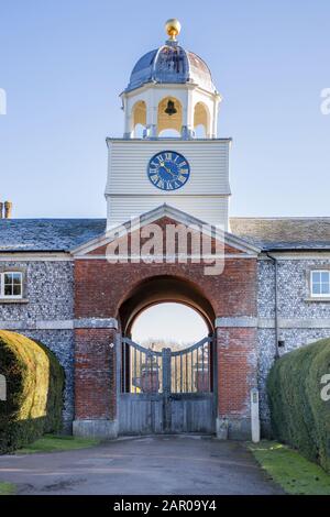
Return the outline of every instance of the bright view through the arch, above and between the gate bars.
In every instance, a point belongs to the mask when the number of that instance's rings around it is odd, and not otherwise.
[[[136,316],[131,333],[131,350],[125,348],[125,363],[130,363],[125,373],[127,393],[145,395],[164,389],[164,355],[169,358],[167,387],[172,393],[191,396],[210,392],[209,328],[196,309],[182,302],[153,305]]]

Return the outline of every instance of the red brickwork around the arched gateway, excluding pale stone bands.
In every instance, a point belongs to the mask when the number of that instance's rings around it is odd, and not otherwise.
[[[100,248],[92,253],[103,252]],[[233,249],[228,252],[241,253]],[[217,317],[256,317],[256,258],[233,257],[226,260],[218,276],[206,276],[204,264],[76,260],[75,318],[118,318],[121,304],[141,280],[163,275],[196,285]],[[112,339],[111,330],[76,331],[76,418],[113,418],[116,414],[114,353],[109,349]],[[255,342],[255,329],[218,330],[220,415],[246,413],[256,376]]]

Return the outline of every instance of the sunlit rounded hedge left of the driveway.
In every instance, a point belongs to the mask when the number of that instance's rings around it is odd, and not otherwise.
[[[64,372],[46,346],[1,330],[0,374],[7,380],[7,400],[0,400],[0,453],[61,430]]]

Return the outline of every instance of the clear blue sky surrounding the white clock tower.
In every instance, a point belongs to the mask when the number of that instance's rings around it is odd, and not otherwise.
[[[106,216],[118,95],[170,16],[223,95],[231,215],[329,216],[328,0],[0,0],[1,198],[14,217]]]

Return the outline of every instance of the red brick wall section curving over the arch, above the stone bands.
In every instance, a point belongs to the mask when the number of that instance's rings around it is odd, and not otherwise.
[[[202,264],[109,264],[75,262],[76,318],[117,318],[120,305],[143,279],[172,275],[194,283],[218,317],[256,315],[256,261],[229,258],[219,276],[206,276]]]

